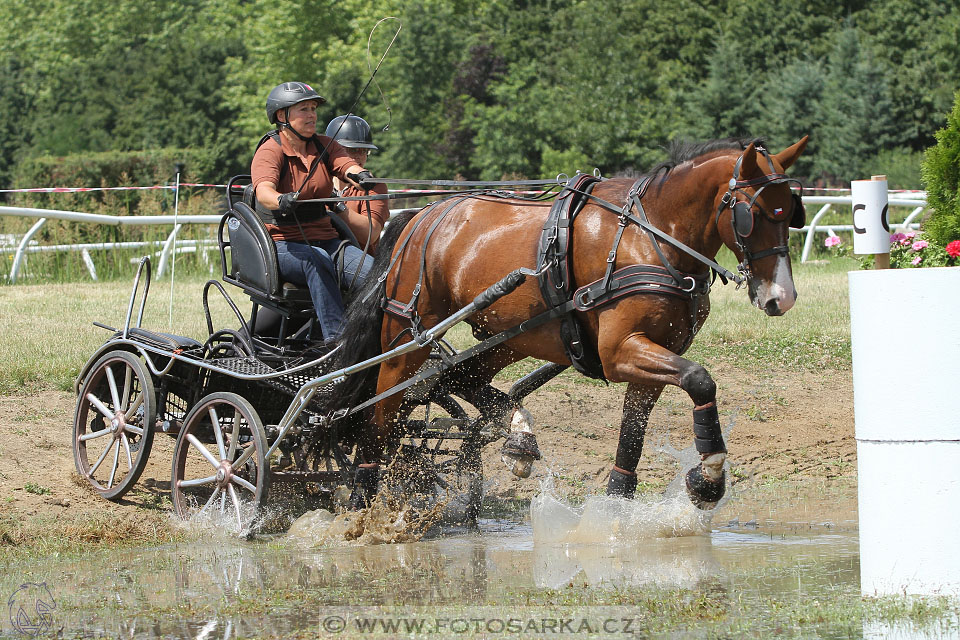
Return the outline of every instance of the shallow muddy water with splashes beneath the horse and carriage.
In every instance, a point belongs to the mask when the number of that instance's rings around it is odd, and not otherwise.
[[[853,514],[838,514],[833,499],[819,509],[830,520],[765,518],[746,496],[711,518],[673,498],[571,505],[547,489],[528,512],[415,543],[310,548],[208,527],[189,543],[23,561],[5,567],[0,595],[19,605],[49,601],[47,617],[34,620],[66,637],[232,638],[313,637],[347,604],[489,614],[492,603],[502,612],[525,601],[616,604],[636,589],[722,589],[749,609],[771,596],[859,589]],[[789,513],[793,500],[783,500]],[[11,619],[0,620],[4,636],[18,637]]]

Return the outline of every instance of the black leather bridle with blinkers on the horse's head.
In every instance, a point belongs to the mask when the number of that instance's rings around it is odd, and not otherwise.
[[[791,178],[786,174],[777,172],[776,168],[773,166],[773,159],[770,157],[770,153],[766,150],[766,148],[756,145],[754,149],[756,149],[758,153],[762,154],[763,157],[766,158],[767,164],[770,166],[770,173],[764,174],[759,178],[753,178],[752,180],[741,180],[740,168],[743,164],[743,158],[746,155],[746,150],[744,150],[744,152],[740,154],[740,157],[737,158],[736,163],[733,165],[733,177],[730,178],[730,185],[727,187],[727,192],[723,194],[723,198],[720,199],[715,220],[717,228],[719,229],[720,216],[723,214],[724,209],[731,209],[732,213],[730,215],[730,225],[733,228],[734,242],[736,242],[737,247],[743,254],[743,260],[741,260],[740,264],[737,265],[737,270],[747,276],[747,278],[749,278],[752,274],[750,266],[754,260],[759,260],[771,255],[788,254],[788,249],[785,244],[770,247],[769,249],[764,249],[763,251],[758,251],[756,253],[752,253],[747,248],[747,238],[749,238],[753,233],[753,227],[756,222],[754,207],[759,209],[761,215],[771,222],[782,223],[786,221],[786,217],[781,215],[781,209],[774,209],[773,214],[771,215],[757,202],[760,194],[763,193],[764,189],[773,184],[792,182],[801,189],[803,188],[803,185],[796,178]],[[745,191],[745,189],[750,187],[760,188],[756,189],[751,195]],[[738,198],[738,193],[742,194],[743,198]],[[805,224],[806,218],[806,214],[803,209],[803,201],[800,199],[799,195],[792,194],[791,202],[793,204],[793,211],[790,213],[790,226],[802,228]]]

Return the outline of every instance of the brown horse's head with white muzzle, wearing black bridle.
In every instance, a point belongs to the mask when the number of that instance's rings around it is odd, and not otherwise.
[[[803,153],[808,136],[778,154],[750,143],[733,166],[733,177],[717,207],[720,237],[740,261],[750,301],[767,315],[786,313],[797,301],[790,254],[789,227],[806,219],[799,195],[790,191],[784,172]]]

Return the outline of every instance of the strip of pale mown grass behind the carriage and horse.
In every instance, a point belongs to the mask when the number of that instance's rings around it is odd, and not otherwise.
[[[779,318],[768,318],[750,305],[745,291],[719,283],[711,293],[712,312],[688,352],[699,362],[731,360],[745,366],[800,367],[847,370],[850,367],[850,318],[847,276],[853,260],[829,264],[796,264],[800,298]],[[155,281],[147,301],[143,326],[207,337],[201,291],[206,275]],[[24,386],[69,389],[80,367],[109,336],[94,321],[121,327],[131,292],[131,279],[104,282],[0,286],[0,393]],[[244,311],[246,296],[228,291]],[[236,327],[237,321],[216,292],[211,294],[215,328]],[[139,301],[136,309],[139,309]],[[136,314],[135,309],[135,314]],[[466,325],[454,327],[447,339],[459,348],[475,343]],[[527,359],[501,372],[500,380],[516,380],[539,366]],[[602,382],[566,371],[577,384]]]

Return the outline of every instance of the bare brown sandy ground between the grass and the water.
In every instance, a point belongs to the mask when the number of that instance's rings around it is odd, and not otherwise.
[[[732,425],[728,449],[734,486],[776,481],[836,482],[855,486],[856,443],[849,372],[751,372],[709,365],[718,382],[721,422]],[[573,384],[559,378],[527,399],[544,460],[526,480],[499,460],[498,444],[484,451],[486,495],[524,498],[552,469],[559,490],[603,490],[617,446],[622,385]],[[0,515],[71,520],[87,516],[138,519],[170,509],[173,439],[157,434],[140,482],[118,503],[100,498],[74,469],[70,445],[75,397],[43,391],[0,397]],[[688,398],[668,389],[650,421],[637,469],[641,489],[657,490],[677,473],[655,450],[664,436],[677,449],[692,442]]]

